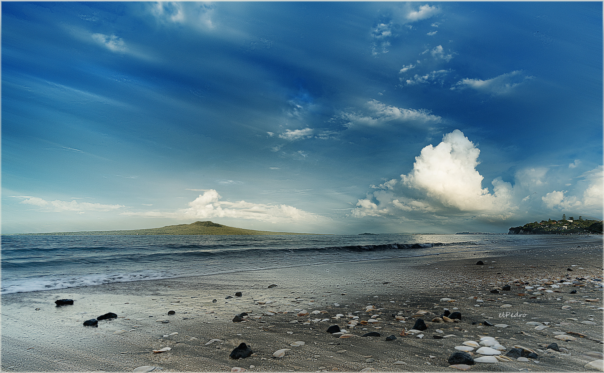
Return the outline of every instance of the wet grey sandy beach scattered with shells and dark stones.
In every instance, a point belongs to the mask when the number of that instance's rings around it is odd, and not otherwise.
[[[601,359],[593,352],[602,352],[604,339],[602,269],[601,236],[561,237],[539,247],[7,294],[1,367],[14,372],[129,372],[140,366],[164,372],[456,371],[448,362],[459,352],[455,346],[489,336],[506,348],[502,355],[522,346],[538,357],[475,363],[470,370],[596,371],[585,365]],[[269,288],[272,284],[277,286]],[[506,285],[511,289],[503,290]],[[495,289],[498,293],[491,292]],[[74,304],[56,307],[57,299]],[[432,322],[445,308],[460,312],[461,320]],[[109,312],[117,319],[101,320],[97,328],[82,325]],[[233,322],[244,312],[242,322]],[[369,322],[372,316],[376,322]],[[417,319],[427,329],[405,332]],[[332,325],[345,334],[328,333]],[[367,332],[380,336],[362,337]],[[547,348],[554,342],[561,351]],[[254,353],[234,360],[229,355],[240,343]],[[165,347],[170,350],[152,351]],[[279,349],[288,351],[274,357]]]

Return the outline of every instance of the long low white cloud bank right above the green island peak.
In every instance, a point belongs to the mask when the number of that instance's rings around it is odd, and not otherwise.
[[[220,201],[222,196],[210,189],[188,203],[187,209],[175,212],[123,212],[120,215],[143,216],[147,218],[209,219],[240,218],[264,222],[321,222],[327,221],[322,215],[306,212],[285,204],[249,203],[246,201]]]

